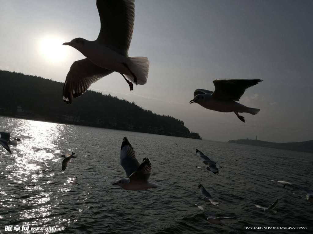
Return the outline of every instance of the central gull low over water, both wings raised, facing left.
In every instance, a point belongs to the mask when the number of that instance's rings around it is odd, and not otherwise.
[[[120,160],[121,166],[126,172],[127,179],[120,179],[112,185],[118,185],[126,190],[134,191],[159,187],[148,181],[151,175],[151,163],[149,159],[143,158],[142,163],[139,164],[135,151],[126,137],[123,138]]]

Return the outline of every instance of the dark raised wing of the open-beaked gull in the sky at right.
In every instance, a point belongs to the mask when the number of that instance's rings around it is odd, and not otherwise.
[[[215,90],[212,97],[221,100],[239,101],[244,91],[262,80],[214,80]]]

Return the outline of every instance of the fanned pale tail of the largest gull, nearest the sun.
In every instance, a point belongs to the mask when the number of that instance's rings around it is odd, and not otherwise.
[[[127,78],[134,82],[136,85],[144,85],[147,82],[149,73],[149,60],[147,57],[128,57],[129,61],[127,66],[131,71]],[[134,77],[136,76],[136,77]]]

